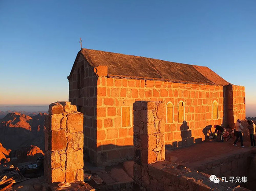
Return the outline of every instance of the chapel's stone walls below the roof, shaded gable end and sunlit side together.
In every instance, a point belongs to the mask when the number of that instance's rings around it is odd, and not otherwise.
[[[245,87],[114,76],[110,66],[92,62],[81,51],[77,55],[69,101],[84,114],[85,160],[98,166],[133,158],[135,101],[163,102],[167,149],[203,141],[213,125],[232,127],[245,119]]]

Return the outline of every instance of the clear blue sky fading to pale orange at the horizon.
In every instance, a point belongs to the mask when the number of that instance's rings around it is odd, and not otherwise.
[[[245,86],[256,116],[255,0],[0,0],[0,104],[67,101],[79,37],[83,48],[208,66]]]

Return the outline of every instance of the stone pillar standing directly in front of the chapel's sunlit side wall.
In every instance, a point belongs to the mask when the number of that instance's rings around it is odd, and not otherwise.
[[[164,104],[136,101],[133,104],[135,162],[151,164],[165,160]]]

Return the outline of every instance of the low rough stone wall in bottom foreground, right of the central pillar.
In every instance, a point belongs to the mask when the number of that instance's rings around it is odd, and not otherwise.
[[[144,165],[143,169],[143,182],[136,182],[134,191],[249,191],[234,183],[216,184],[209,180],[209,174],[168,161]]]

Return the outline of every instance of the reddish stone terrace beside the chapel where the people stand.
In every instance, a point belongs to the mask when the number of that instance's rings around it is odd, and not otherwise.
[[[233,146],[233,139],[227,142],[202,142],[193,146],[175,150],[166,150],[166,161],[183,165],[199,172],[224,177],[246,177],[247,182],[238,182],[240,186],[256,188],[256,148],[250,142],[244,142],[245,148]],[[230,182],[230,181],[229,181]],[[235,181],[234,181],[235,182]],[[220,182],[219,184],[223,184]]]

